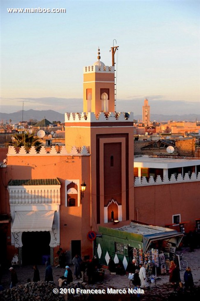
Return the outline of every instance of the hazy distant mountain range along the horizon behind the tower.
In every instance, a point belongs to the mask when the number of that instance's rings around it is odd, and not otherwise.
[[[54,110],[27,110],[23,112],[23,121],[29,121],[30,119],[37,119],[38,121],[48,119],[50,122],[54,120],[64,122],[65,116],[64,113],[58,113]],[[0,122],[6,121],[9,123],[9,120],[12,120],[11,123],[18,123],[22,121],[22,110],[15,113],[0,113]],[[134,119],[141,120],[142,115],[134,115]],[[185,115],[162,115],[162,114],[151,114],[151,121],[156,120],[157,122],[168,120],[174,121],[200,121],[200,114],[185,114]]]

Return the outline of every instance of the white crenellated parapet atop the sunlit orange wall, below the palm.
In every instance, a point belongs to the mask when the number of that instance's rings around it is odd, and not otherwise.
[[[89,147],[72,146],[71,151],[67,152],[63,145],[60,151],[56,150],[55,146],[44,147],[42,146],[39,151],[36,151],[35,147],[32,146],[29,151],[22,147],[8,147],[8,156],[90,156]]]

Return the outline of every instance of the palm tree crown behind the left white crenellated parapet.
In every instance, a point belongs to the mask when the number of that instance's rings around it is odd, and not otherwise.
[[[22,132],[16,133],[12,138],[12,145],[16,147],[24,146],[26,151],[29,151],[32,146],[36,147],[36,151],[38,151],[41,147],[41,143],[37,136],[34,136],[35,132]]]

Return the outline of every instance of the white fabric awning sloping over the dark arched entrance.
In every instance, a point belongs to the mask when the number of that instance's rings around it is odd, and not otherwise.
[[[54,211],[16,211],[11,232],[51,231]]]

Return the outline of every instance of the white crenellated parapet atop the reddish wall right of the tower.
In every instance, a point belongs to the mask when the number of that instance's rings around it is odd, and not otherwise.
[[[185,183],[185,182],[200,182],[200,172],[196,176],[195,172],[192,172],[191,177],[189,177],[188,173],[182,177],[182,175],[179,173],[177,178],[174,174],[171,175],[170,178],[165,176],[163,179],[160,175],[157,176],[156,179],[153,178],[151,175],[149,177],[149,180],[147,180],[146,177],[141,177],[141,181],[138,177],[135,177],[134,180],[134,186],[150,186],[150,185],[163,185],[163,184],[177,184],[177,183]]]

